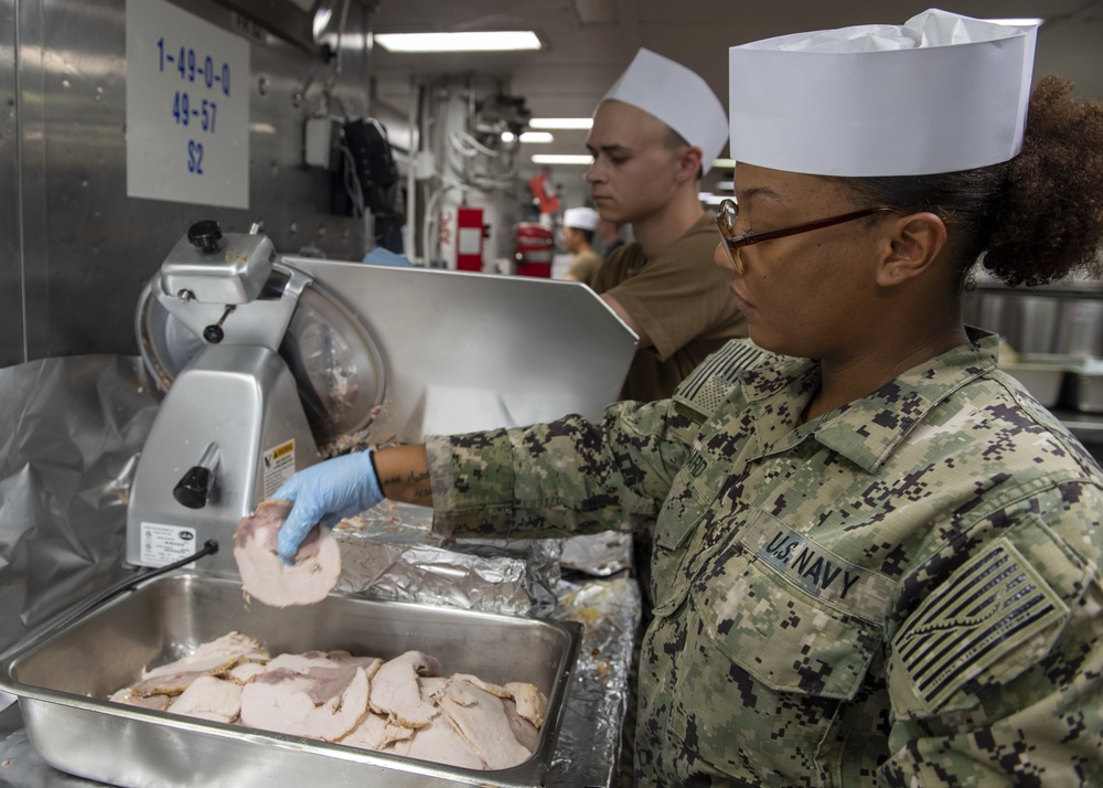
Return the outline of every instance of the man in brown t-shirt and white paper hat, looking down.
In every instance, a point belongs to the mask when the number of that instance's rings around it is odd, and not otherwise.
[[[592,286],[640,338],[621,398],[668,397],[706,355],[746,336],[711,264],[716,228],[698,198],[727,138],[708,84],[650,50],[595,110],[590,196],[601,219],[631,224],[634,237],[606,258]]]

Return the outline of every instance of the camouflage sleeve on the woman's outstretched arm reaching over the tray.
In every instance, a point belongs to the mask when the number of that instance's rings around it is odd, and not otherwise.
[[[599,423],[429,436],[433,530],[547,536],[632,530],[654,518],[696,434],[670,401],[621,402]]]

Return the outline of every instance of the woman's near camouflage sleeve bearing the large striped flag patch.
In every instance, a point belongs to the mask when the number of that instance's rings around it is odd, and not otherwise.
[[[912,575],[918,604],[889,649],[884,784],[1103,785],[1103,589],[1083,557],[1099,555],[1101,511],[1094,486],[1059,486],[985,518],[1015,523],[998,537],[982,524]]]

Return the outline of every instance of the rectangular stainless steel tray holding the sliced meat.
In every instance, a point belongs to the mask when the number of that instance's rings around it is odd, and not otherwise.
[[[548,698],[533,757],[478,771],[110,703],[146,667],[178,659],[229,630],[275,654],[346,649],[395,657],[417,649],[446,674],[527,681]],[[581,627],[340,594],[319,605],[246,604],[239,582],[170,574],[39,638],[2,662],[0,689],[19,698],[28,736],[51,766],[119,786],[543,786]]]

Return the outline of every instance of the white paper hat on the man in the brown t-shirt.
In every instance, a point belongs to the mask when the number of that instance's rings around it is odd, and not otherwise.
[[[702,170],[728,139],[728,116],[724,105],[696,73],[668,57],[641,49],[620,78],[602,97],[624,102],[654,115],[702,151]]]

